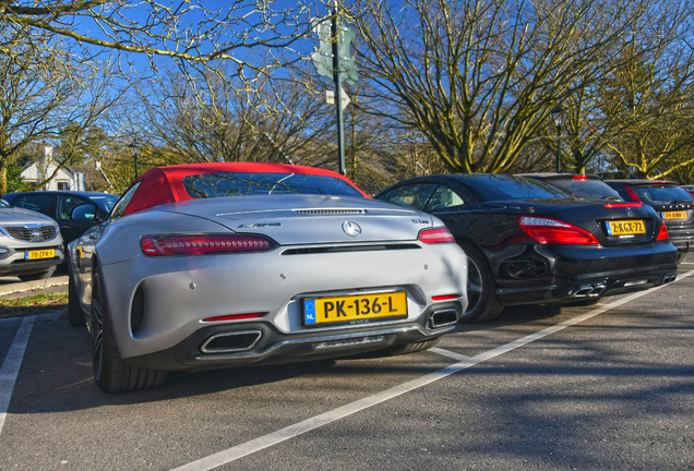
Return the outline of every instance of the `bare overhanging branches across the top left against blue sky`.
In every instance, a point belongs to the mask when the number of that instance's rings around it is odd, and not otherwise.
[[[124,69],[132,65],[131,53],[146,55],[153,63],[154,58],[161,57],[203,69],[214,61],[228,60],[237,65],[246,86],[258,72],[282,65],[292,45],[309,31],[304,17],[308,10],[301,3],[294,8],[264,0],[222,4],[207,8],[203,0],[3,1],[0,24],[124,52]],[[13,48],[4,41],[0,53],[16,53]],[[259,65],[253,58],[260,49],[282,55]]]

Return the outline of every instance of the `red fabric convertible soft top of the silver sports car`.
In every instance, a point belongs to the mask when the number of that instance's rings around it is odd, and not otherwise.
[[[229,172],[254,172],[254,173],[307,173],[324,177],[333,177],[346,181],[355,189],[359,190],[347,177],[332,170],[314,167],[295,166],[288,164],[258,164],[258,162],[207,162],[207,164],[186,164],[170,167],[157,167],[144,172],[136,182],[141,182],[135,191],[123,216],[148,209],[167,203],[175,203],[194,200],[183,186],[183,178],[204,173],[229,173]],[[364,192],[359,192],[369,197]]]

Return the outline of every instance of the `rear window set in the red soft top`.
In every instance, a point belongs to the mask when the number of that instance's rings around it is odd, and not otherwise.
[[[271,194],[363,195],[344,180],[306,173],[232,172],[204,173],[183,178],[191,197],[249,196]]]

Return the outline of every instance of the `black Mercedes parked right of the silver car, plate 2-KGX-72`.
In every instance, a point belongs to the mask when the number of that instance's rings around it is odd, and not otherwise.
[[[468,257],[464,322],[503,306],[594,303],[673,281],[677,249],[641,203],[574,197],[503,174],[442,174],[396,183],[375,196],[441,218]]]

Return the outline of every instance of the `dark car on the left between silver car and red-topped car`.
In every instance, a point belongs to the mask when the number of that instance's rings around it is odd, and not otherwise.
[[[94,225],[106,220],[118,201],[117,195],[109,193],[74,191],[8,193],[3,198],[14,207],[41,213],[57,221],[65,253],[70,242]]]

